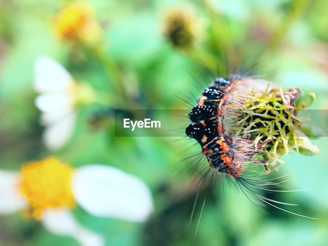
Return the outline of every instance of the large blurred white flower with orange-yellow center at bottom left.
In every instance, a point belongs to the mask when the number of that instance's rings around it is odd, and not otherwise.
[[[82,227],[70,213],[76,203],[99,217],[145,221],[153,197],[138,177],[105,165],[72,169],[54,157],[28,162],[20,172],[0,170],[0,214],[25,209],[51,233],[71,236],[82,246],[102,246],[104,238]]]

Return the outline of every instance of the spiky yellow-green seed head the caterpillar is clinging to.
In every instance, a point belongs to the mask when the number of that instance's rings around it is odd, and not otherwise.
[[[292,150],[304,155],[320,153],[318,147],[302,131],[302,123],[309,119],[309,115],[300,117],[297,113],[298,107],[304,109],[312,105],[315,94],[299,96],[299,89],[283,92],[281,87],[271,91],[268,88],[264,92],[253,91],[243,100],[243,107],[238,109],[240,116],[233,122],[238,128],[232,133],[250,139],[255,147],[271,140],[257,154],[257,160],[271,169],[277,163],[284,163],[281,156],[290,154]],[[309,131],[306,128],[305,132]],[[312,131],[322,135],[318,129]]]

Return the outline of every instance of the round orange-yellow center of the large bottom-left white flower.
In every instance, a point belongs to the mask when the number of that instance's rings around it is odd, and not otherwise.
[[[29,215],[41,219],[46,208],[73,208],[70,188],[72,168],[54,157],[25,163],[21,168],[21,191],[27,197]]]

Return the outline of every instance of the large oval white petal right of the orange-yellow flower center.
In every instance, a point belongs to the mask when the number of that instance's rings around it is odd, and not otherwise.
[[[75,170],[72,192],[92,215],[145,221],[153,211],[153,197],[138,177],[117,168],[88,165]]]

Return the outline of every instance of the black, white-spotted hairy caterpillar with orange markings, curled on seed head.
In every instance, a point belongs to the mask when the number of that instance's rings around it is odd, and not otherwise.
[[[186,128],[187,136],[195,138],[202,147],[202,154],[207,157],[212,169],[240,176],[243,162],[251,159],[255,149],[247,141],[237,142],[232,134],[226,133],[224,124],[225,111],[229,108],[228,98],[236,82],[242,78],[230,75],[228,79],[216,78],[214,84],[204,90],[189,118],[193,122]],[[247,145],[247,148],[246,146]],[[244,154],[247,153],[247,154]]]

